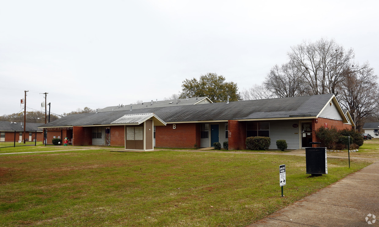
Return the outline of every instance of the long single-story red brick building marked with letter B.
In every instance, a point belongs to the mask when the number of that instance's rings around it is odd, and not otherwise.
[[[133,125],[143,127],[138,129],[138,133],[155,129],[155,147],[193,148],[195,144],[211,147],[214,142],[222,145],[228,141],[229,149],[246,149],[245,140],[250,136],[270,137],[269,149],[276,149],[276,140],[286,140],[288,149],[299,149],[317,141],[315,131],[321,126],[335,126],[337,129],[354,127],[351,117],[341,109],[333,94],[204,105],[170,102],[166,101],[166,106],[162,107],[152,104],[150,108],[145,105],[144,108],[133,109],[132,106],[132,111],[68,115],[40,127],[72,130],[73,145],[106,145],[106,141],[110,141],[111,146],[125,146],[125,149],[129,131],[130,138],[133,136],[135,139]],[[142,118],[143,114],[154,114],[152,119],[148,119],[153,121],[152,129],[144,122],[130,120],[133,115]],[[122,118],[129,120],[122,121]]]

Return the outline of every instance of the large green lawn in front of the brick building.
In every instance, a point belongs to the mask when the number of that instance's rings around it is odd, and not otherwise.
[[[246,226],[370,164],[305,157],[106,149],[0,156],[0,226]],[[286,164],[285,197],[279,165]]]

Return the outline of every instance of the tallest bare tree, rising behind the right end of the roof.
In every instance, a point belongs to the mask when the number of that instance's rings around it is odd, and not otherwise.
[[[304,41],[291,47],[287,53],[290,64],[296,67],[309,86],[309,95],[326,93],[338,94],[338,86],[348,72],[358,72],[354,67],[354,51],[345,51],[334,39],[319,39],[316,42]],[[357,65],[357,64],[356,64]]]

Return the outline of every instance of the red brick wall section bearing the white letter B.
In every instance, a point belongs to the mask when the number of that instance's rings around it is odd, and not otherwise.
[[[155,127],[156,148],[194,148],[200,146],[200,123],[178,123]]]

